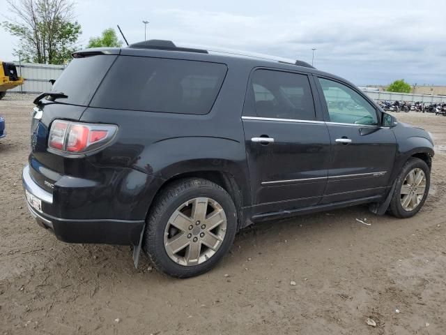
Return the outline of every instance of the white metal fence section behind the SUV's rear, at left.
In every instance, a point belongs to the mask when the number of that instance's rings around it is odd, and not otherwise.
[[[56,80],[65,66],[15,62],[17,74],[24,78],[22,86],[11,89],[12,92],[40,93],[51,90],[50,79]]]

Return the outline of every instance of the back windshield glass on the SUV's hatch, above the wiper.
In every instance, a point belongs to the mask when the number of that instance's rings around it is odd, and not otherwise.
[[[89,105],[93,94],[107,70],[112,66],[116,55],[96,55],[75,58],[54,83],[53,92],[62,92],[68,98],[57,98],[60,103]]]

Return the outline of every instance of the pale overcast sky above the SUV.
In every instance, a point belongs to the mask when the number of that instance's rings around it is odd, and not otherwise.
[[[0,0],[0,8],[6,7]],[[4,10],[2,10],[4,13]],[[129,43],[148,38],[312,62],[354,82],[446,85],[446,1],[77,0],[79,47],[119,24]],[[3,21],[5,17],[1,17]],[[0,59],[17,38],[0,27]]]

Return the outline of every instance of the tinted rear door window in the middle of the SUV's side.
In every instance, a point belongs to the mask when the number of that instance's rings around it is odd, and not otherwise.
[[[252,76],[258,117],[314,120],[312,91],[306,75],[256,70]]]

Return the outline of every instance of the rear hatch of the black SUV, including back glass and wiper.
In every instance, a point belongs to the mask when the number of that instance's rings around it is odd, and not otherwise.
[[[77,54],[52,90],[35,101],[36,107],[31,112],[30,172],[47,191],[52,190],[44,179],[51,184],[60,174],[77,174],[83,161],[70,160],[47,151],[49,127],[55,119],[79,121],[118,53],[119,49]]]

